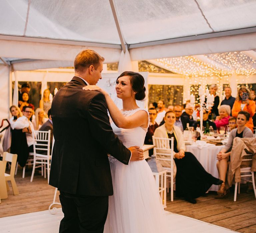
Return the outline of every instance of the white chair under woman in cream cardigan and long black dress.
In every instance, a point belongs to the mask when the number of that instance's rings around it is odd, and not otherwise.
[[[173,174],[173,143],[174,138],[161,138],[152,136],[153,144],[154,144],[154,155],[160,161],[167,161],[170,163],[170,167],[164,167],[167,170],[167,177],[171,179],[171,201],[173,201],[173,185],[174,185],[174,174]],[[170,147],[171,141],[171,147]]]

